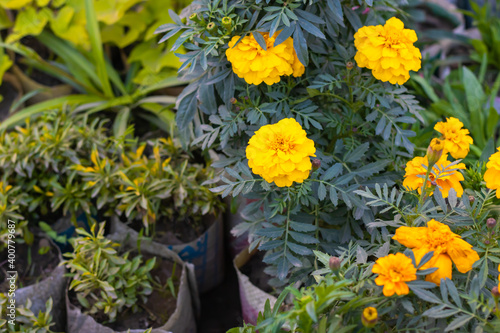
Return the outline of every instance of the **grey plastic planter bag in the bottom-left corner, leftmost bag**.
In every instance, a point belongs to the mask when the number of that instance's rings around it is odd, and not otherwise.
[[[59,248],[49,239],[51,247],[55,248],[58,253],[59,262],[62,261]],[[16,290],[16,305],[26,305],[28,298],[31,300],[31,311],[38,315],[40,311],[45,312],[45,303],[52,297],[52,320],[54,326],[50,329],[54,332],[64,332],[66,327],[65,321],[65,301],[64,295],[66,291],[66,280],[64,277],[66,269],[62,266],[56,267],[52,273],[38,283],[26,286]]]

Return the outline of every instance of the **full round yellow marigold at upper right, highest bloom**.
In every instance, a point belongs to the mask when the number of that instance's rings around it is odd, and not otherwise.
[[[413,46],[417,34],[404,29],[401,20],[393,17],[384,26],[366,26],[354,34],[358,52],[354,59],[359,67],[372,70],[375,78],[392,84],[403,84],[410,78],[410,71],[421,67],[420,50]]]

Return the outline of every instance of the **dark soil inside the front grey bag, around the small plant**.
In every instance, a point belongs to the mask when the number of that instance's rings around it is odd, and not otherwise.
[[[131,253],[130,257],[133,258],[136,255],[136,253]],[[145,263],[153,256],[143,255],[142,257],[143,263]],[[156,257],[155,268],[151,271],[151,276],[153,276],[156,282],[159,282],[162,286],[166,286],[167,279],[172,275],[173,266],[174,264],[171,261]],[[175,277],[173,278],[176,295],[179,291],[181,272],[182,267],[177,264]],[[68,296],[71,304],[80,307],[76,294],[73,291],[70,291]],[[165,289],[162,288],[161,292],[154,288],[151,295],[148,296],[147,302],[143,303],[139,301],[138,305],[138,312],[134,313],[131,309],[125,309],[118,314],[116,320],[112,323],[106,322],[108,318],[104,314],[91,316],[96,322],[118,332],[127,331],[128,329],[146,330],[149,327],[157,328],[164,325],[175,312],[177,299],[172,296],[168,287]],[[81,307],[80,309],[83,310]]]

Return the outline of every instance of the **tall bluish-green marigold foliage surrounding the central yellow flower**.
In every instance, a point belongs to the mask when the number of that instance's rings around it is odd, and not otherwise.
[[[267,252],[266,272],[276,277],[275,286],[286,283],[290,272],[292,280],[306,278],[314,269],[313,250],[332,253],[365,238],[373,213],[353,191],[375,182],[394,184],[413,154],[410,128],[420,117],[417,101],[406,88],[382,84],[352,66],[353,34],[392,16],[384,9],[396,9],[399,2],[383,1],[381,10],[371,5],[195,1],[192,20],[183,23],[170,12],[175,23],[158,29],[166,32],[163,39],[181,33],[174,49],[184,45],[188,52],[180,74],[196,78],[177,100],[179,133],[186,143],[221,154],[214,166],[225,171],[214,192],[254,199],[243,211],[248,223],[235,234],[250,231],[251,248]],[[362,14],[365,9],[371,10]],[[223,19],[234,14],[229,33]],[[202,19],[217,29],[207,30]],[[276,44],[293,37],[305,74],[269,87],[238,78],[225,56],[227,42],[257,31],[278,31]],[[321,166],[302,184],[279,188],[252,174],[245,149],[254,131],[289,117],[314,140]],[[378,230],[369,233],[374,241],[382,237]]]

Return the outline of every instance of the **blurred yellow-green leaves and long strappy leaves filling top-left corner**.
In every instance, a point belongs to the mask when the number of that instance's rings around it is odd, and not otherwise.
[[[179,85],[181,63],[167,43],[157,43],[154,30],[169,22],[165,10],[188,3],[1,1],[0,77],[11,86],[0,90],[9,99],[2,107],[25,108],[0,127],[67,104],[80,112],[111,112],[117,135],[138,117],[169,132],[176,92],[168,88]]]

